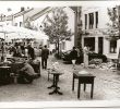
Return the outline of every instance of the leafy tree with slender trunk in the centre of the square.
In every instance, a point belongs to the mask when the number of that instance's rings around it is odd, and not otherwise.
[[[56,44],[59,57],[59,44],[62,40],[70,40],[71,29],[68,28],[68,15],[63,8],[55,8],[51,12],[51,16],[46,16],[44,22],[44,32],[49,36],[49,41]]]

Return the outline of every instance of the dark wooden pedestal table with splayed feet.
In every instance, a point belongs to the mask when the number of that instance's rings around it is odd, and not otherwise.
[[[63,73],[52,71],[52,72],[50,72],[50,74],[53,75],[53,82],[52,82],[52,85],[49,86],[48,88],[55,87],[55,89],[53,89],[52,92],[50,92],[49,95],[52,95],[52,94],[62,95],[62,93],[59,92],[60,87],[58,86],[58,81],[59,81],[59,75],[61,75],[61,74],[63,74]]]

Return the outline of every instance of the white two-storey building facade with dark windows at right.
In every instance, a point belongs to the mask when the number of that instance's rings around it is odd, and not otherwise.
[[[119,40],[107,39],[107,23],[110,22],[107,9],[107,7],[83,8],[82,47],[88,46],[92,51],[106,55],[110,59],[116,59],[118,58]]]

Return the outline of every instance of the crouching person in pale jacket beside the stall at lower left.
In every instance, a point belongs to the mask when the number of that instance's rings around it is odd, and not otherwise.
[[[20,70],[19,83],[27,84],[32,83],[34,78],[37,78],[37,73],[35,73],[33,66],[27,62],[24,61],[24,66]]]

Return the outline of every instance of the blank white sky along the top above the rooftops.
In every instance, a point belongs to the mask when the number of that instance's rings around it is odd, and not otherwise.
[[[120,1],[0,1],[0,14],[11,14],[19,12],[21,7],[29,8],[45,8],[45,7],[110,7],[119,5]],[[8,9],[12,11],[8,12]]]

